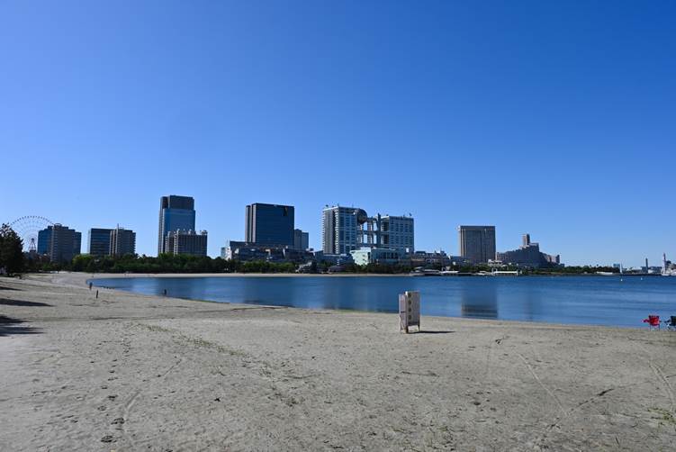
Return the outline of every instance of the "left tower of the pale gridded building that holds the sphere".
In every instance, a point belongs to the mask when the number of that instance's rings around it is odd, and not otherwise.
[[[321,248],[324,254],[348,254],[362,243],[360,225],[366,212],[356,207],[327,206],[321,215]]]

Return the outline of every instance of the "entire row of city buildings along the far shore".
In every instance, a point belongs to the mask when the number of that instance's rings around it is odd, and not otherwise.
[[[158,255],[207,255],[207,231],[195,228],[194,198],[170,194],[159,201]],[[68,261],[80,254],[81,233],[61,224],[50,225],[38,235],[37,252],[51,261]],[[412,215],[369,215],[364,209],[326,205],[321,211],[321,249],[310,248],[308,232],[295,227],[293,205],[252,203],[246,206],[244,240],[230,240],[221,248],[221,258],[268,262],[328,262],[449,267],[489,264],[518,267],[552,267],[561,260],[540,251],[530,235],[521,247],[497,252],[495,226],[459,226],[459,256],[444,251],[415,249]],[[136,253],[136,233],[119,225],[113,229],[92,228],[87,239],[92,256],[122,256]]]

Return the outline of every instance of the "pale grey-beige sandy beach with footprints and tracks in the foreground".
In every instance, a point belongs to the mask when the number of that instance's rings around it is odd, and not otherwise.
[[[0,278],[0,450],[673,450],[676,333]],[[423,301],[424,303],[424,301]]]

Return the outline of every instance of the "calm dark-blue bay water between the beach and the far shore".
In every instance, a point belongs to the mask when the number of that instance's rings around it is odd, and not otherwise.
[[[642,327],[648,314],[676,315],[676,277],[232,276],[122,277],[97,286],[221,303],[397,312],[418,290],[423,315]]]

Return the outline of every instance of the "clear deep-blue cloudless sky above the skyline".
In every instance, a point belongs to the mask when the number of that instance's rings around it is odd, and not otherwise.
[[[163,194],[209,253],[247,203],[530,232],[566,264],[676,259],[676,2],[0,0],[0,221],[116,223]],[[83,240],[84,241],[84,240]],[[83,243],[83,251],[86,245]]]

